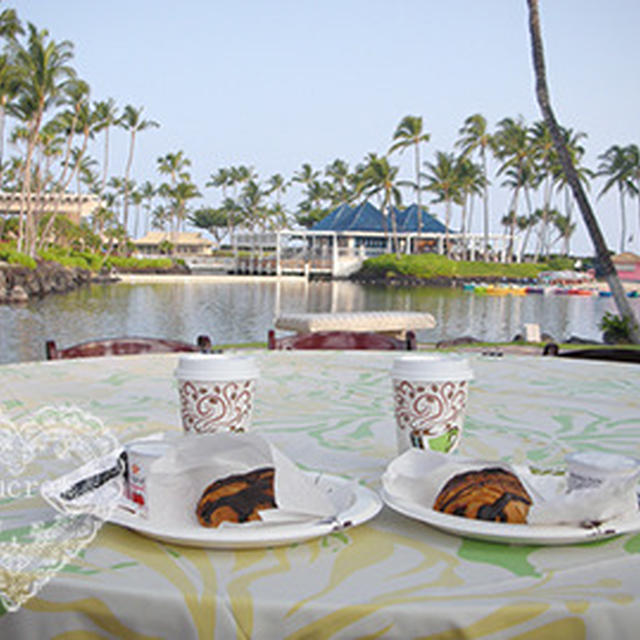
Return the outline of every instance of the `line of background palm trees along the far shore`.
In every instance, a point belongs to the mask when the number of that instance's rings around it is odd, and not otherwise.
[[[18,250],[30,256],[51,242],[57,207],[69,192],[97,196],[101,206],[89,224],[112,242],[151,228],[179,231],[189,223],[220,244],[237,229],[308,228],[341,204],[373,199],[394,235],[397,208],[413,200],[419,208],[442,204],[445,227],[462,234],[480,209],[487,248],[497,227],[508,234],[511,251],[519,237],[522,253],[533,259],[570,252],[576,229],[573,199],[544,121],[529,125],[521,117],[507,117],[490,130],[483,115],[473,114],[462,123],[452,150],[434,150],[423,159],[430,134],[421,116],[407,115],[385,153],[368,153],[354,167],[338,158],[321,169],[304,163],[288,178],[276,173],[266,179],[254,167],[219,167],[202,188],[191,176],[186,153],[177,150],[156,159],[156,184],[138,184],[131,176],[137,136],[159,123],[146,118],[143,107],[119,108],[112,98],[92,100],[89,84],[72,66],[72,43],[24,25],[13,9],[0,14],[0,38],[0,185],[20,194],[15,237]],[[12,125],[7,135],[5,120]],[[112,174],[110,137],[118,129],[128,136],[128,150],[120,159],[122,170]],[[570,129],[561,133],[585,188],[600,179],[598,195],[617,190],[619,250],[624,251],[630,239],[629,199],[637,198],[640,223],[638,146],[612,145],[590,169],[583,165],[586,135]],[[13,151],[8,158],[5,138]],[[403,177],[397,163],[405,151],[413,155],[413,171]],[[497,220],[492,219],[492,186],[510,194]],[[285,198],[292,188],[295,192]],[[201,203],[205,191],[216,194],[215,206]],[[43,193],[53,195],[53,204],[41,204]]]

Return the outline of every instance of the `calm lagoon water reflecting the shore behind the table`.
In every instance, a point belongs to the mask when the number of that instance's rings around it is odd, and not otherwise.
[[[631,299],[636,313],[640,299]],[[25,306],[0,305],[0,363],[41,360],[44,343],[68,346],[95,337],[146,335],[214,344],[265,342],[284,312],[427,311],[436,328],[418,341],[473,336],[509,341],[535,322],[556,340],[599,340],[598,323],[614,311],[610,298],[527,295],[480,296],[459,289],[396,288],[351,282],[185,278],[182,281],[91,285]]]

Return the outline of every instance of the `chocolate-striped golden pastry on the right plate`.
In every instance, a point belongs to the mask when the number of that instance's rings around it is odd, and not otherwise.
[[[530,506],[531,496],[518,477],[496,467],[454,476],[433,508],[465,518],[524,524]]]

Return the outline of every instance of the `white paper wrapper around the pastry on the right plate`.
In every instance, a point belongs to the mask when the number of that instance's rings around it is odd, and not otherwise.
[[[444,484],[466,471],[501,468],[515,473],[532,498],[529,525],[584,526],[631,515],[638,510],[635,484],[605,482],[599,487],[567,491],[566,476],[533,473],[522,465],[477,460],[410,449],[385,471],[382,484],[392,496],[431,508]]]

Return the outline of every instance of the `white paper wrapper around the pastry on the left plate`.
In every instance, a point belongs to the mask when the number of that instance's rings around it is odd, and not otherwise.
[[[223,523],[221,527],[259,527],[336,515],[327,494],[263,437],[251,433],[212,433],[175,440],[171,450],[151,464],[147,478],[149,519],[154,525],[166,522],[172,526],[199,527],[196,505],[212,482],[262,467],[275,468],[278,508],[261,511],[261,522]]]

